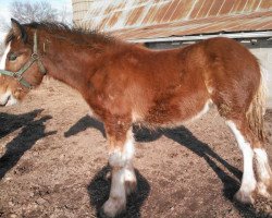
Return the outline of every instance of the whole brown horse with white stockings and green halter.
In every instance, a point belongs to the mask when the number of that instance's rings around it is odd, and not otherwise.
[[[244,156],[235,197],[271,197],[272,172],[263,147],[263,85],[257,59],[240,44],[212,38],[153,51],[61,24],[21,25],[12,20],[1,61],[0,105],[14,105],[47,73],[77,89],[106,128],[112,167],[102,211],[114,217],[135,190],[133,123],[176,126],[211,105],[233,131]],[[254,172],[257,164],[257,179]]]

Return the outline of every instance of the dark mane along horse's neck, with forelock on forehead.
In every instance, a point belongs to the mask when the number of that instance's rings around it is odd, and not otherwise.
[[[94,43],[101,44],[116,44],[119,40],[108,34],[99,33],[97,29],[85,29],[82,27],[71,27],[66,24],[59,22],[32,22],[28,24],[23,24],[27,29],[40,29],[46,31],[55,37],[61,37],[62,39],[67,39],[74,44],[88,45]],[[5,38],[5,45],[14,38],[12,29],[9,32]]]

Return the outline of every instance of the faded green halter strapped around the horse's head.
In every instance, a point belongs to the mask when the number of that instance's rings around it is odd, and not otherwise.
[[[23,74],[32,66],[34,62],[38,63],[39,72],[45,75],[47,70],[45,69],[44,64],[40,61],[38,55],[38,40],[37,40],[37,33],[34,34],[34,46],[33,46],[33,53],[30,60],[28,60],[17,72],[11,72],[5,70],[0,70],[0,74],[8,75],[11,77],[16,78],[23,86],[27,87],[28,89],[33,88],[33,85],[29,84],[25,78],[23,78]]]

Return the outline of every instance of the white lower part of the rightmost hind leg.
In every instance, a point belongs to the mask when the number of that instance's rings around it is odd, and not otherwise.
[[[263,148],[255,148],[254,152],[256,154],[257,172],[259,177],[258,192],[265,197],[270,197],[267,187],[272,180],[272,171],[269,166],[268,154]]]

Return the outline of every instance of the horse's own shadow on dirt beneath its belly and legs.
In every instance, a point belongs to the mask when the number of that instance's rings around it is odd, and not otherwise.
[[[69,131],[64,133],[66,137],[75,135],[88,128],[97,129],[101,132],[103,136],[106,136],[103,124],[89,116],[83,117],[81,120],[77,121],[73,126],[70,128]],[[222,159],[217,153],[214,153],[208,144],[202,143],[199,141],[194,134],[187,130],[185,126],[180,126],[176,129],[163,129],[158,131],[150,131],[145,128],[137,128],[134,126],[134,133],[135,138],[137,142],[152,142],[161,137],[162,135],[175,141],[182,146],[187,147],[191,152],[194,152],[199,157],[203,158],[207,164],[210,166],[210,168],[217,173],[218,178],[223,183],[223,193],[226,199],[232,202],[234,207],[236,207],[243,217],[267,217],[265,214],[261,214],[257,211],[254,207],[243,205],[239,203],[236,203],[233,201],[234,194],[238,191],[240,183],[237,182],[237,180],[242,179],[242,171],[237,168],[231,166],[227,161]],[[233,175],[230,177],[223,169],[219,167],[219,164],[223,165]],[[100,172],[97,173],[95,179],[90,182],[88,186],[89,196],[90,196],[90,204],[96,206],[97,210],[102,206],[102,204],[108,199],[109,192],[110,192],[110,182],[102,179],[104,174],[109,171],[109,167],[104,167]],[[143,183],[143,190],[139,189],[144,193],[144,198],[148,196],[149,193],[149,185],[148,182],[144,179],[143,175],[140,175],[137,172],[138,180],[140,180],[140,183]],[[147,189],[147,190],[145,190]],[[139,193],[140,194],[140,193]],[[141,195],[141,194],[140,194]],[[138,207],[143,204],[144,198],[135,198],[132,197],[131,201],[133,201],[133,205],[138,205]],[[128,202],[128,209],[129,209]],[[138,209],[135,209],[137,215],[136,217],[139,217]],[[129,210],[128,210],[129,213]],[[128,215],[125,215],[125,217],[132,217]],[[135,216],[133,216],[135,217]]]

